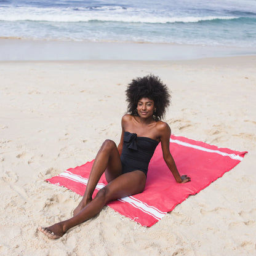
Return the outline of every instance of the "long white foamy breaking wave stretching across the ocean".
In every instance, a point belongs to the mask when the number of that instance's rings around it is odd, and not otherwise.
[[[36,8],[15,7],[0,10],[4,22],[129,22],[129,23],[196,23],[211,20],[233,20],[234,16],[172,17],[171,14],[121,6]]]

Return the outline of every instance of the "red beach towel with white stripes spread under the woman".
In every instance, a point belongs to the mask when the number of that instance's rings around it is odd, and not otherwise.
[[[170,152],[180,175],[187,174],[191,177],[191,182],[185,184],[175,182],[162,159],[161,143],[159,143],[150,161],[143,193],[118,199],[110,202],[108,206],[142,226],[152,226],[188,196],[206,188],[239,164],[247,153],[247,151],[218,148],[175,135],[170,137]],[[83,195],[93,162],[94,160],[82,166],[70,168],[47,181]],[[93,197],[106,184],[105,175],[102,175]]]

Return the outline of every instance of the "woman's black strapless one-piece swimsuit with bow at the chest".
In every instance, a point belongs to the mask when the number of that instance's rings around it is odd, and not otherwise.
[[[137,137],[137,134],[124,132],[121,162],[122,173],[141,170],[146,175],[148,164],[154,154],[158,141],[148,137]]]

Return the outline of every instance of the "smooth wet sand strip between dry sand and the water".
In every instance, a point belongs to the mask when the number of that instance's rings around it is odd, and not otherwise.
[[[0,39],[0,61],[22,60],[191,60],[256,55],[256,47],[167,43]]]

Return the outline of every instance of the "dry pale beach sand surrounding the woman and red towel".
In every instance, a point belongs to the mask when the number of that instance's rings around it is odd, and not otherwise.
[[[173,61],[0,62],[0,255],[255,255],[256,56]],[[132,78],[172,90],[175,135],[249,151],[151,228],[105,208],[50,240],[80,198],[44,182],[119,142]],[[191,177],[193,179],[193,177]]]

